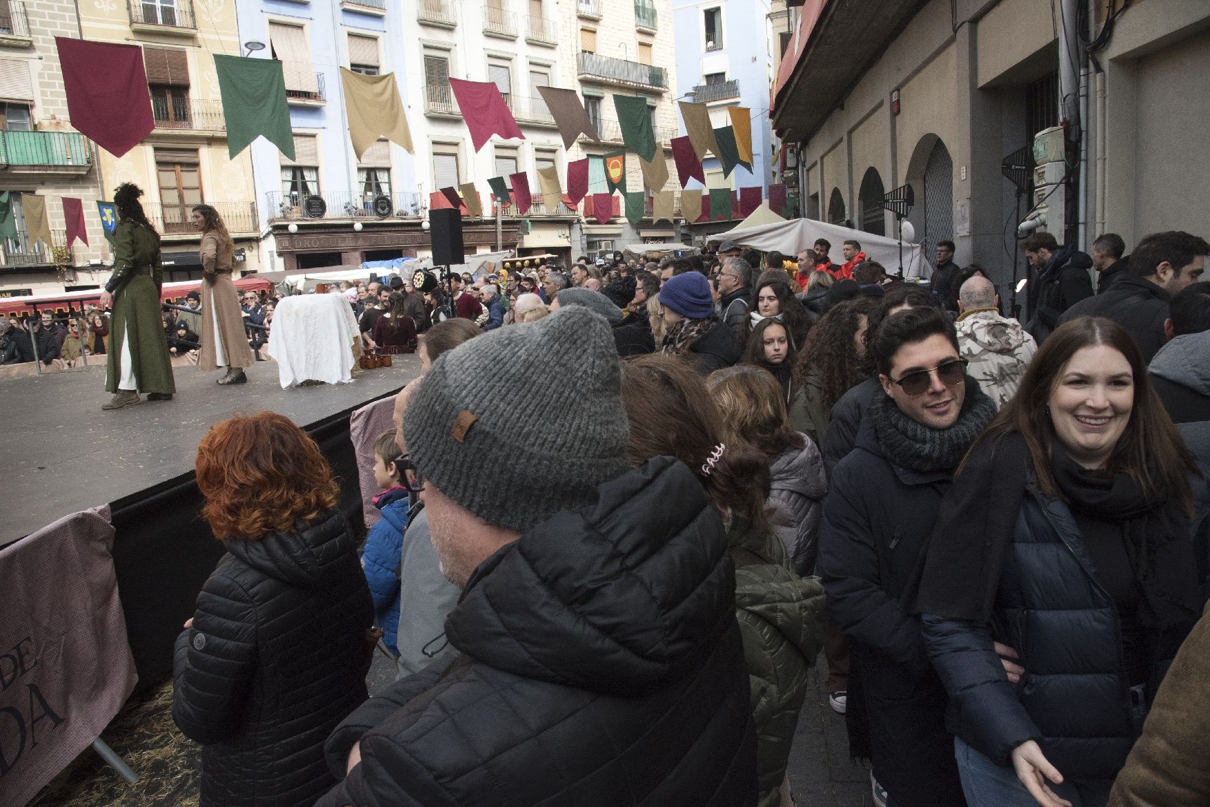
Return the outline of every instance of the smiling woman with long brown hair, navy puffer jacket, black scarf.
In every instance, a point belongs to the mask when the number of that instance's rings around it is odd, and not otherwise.
[[[940,512],[917,608],[967,802],[1105,805],[1200,612],[1210,523],[1130,333],[1058,327]]]

